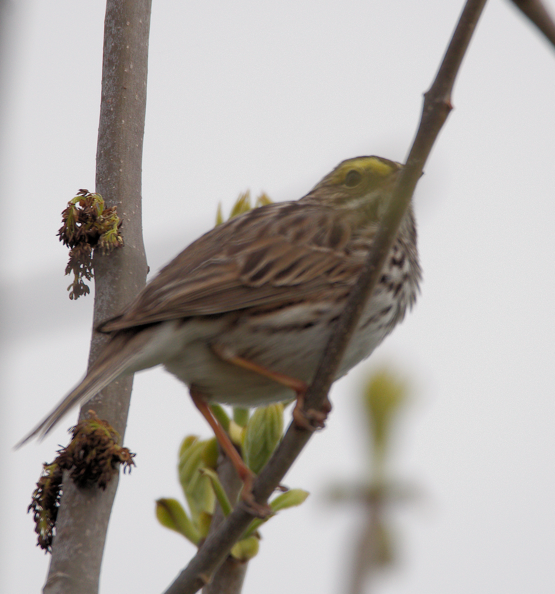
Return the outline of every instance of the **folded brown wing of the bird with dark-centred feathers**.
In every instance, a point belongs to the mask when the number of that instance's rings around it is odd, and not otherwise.
[[[185,248],[98,330],[315,299],[330,287],[344,293],[364,257],[354,243],[351,226],[331,208],[256,208]]]

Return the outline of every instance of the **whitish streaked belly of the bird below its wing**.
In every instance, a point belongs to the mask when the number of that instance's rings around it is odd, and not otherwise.
[[[394,319],[404,314],[406,302],[401,305],[402,312],[397,305],[390,306],[383,293],[374,293],[336,378],[373,352],[392,329]],[[338,308],[308,304],[256,316],[230,314],[208,325],[206,318],[192,318],[176,330],[181,335],[181,349],[163,364],[185,384],[194,384],[203,391],[209,402],[258,406],[293,399],[295,393],[291,389],[222,361],[211,345],[225,346],[270,371],[310,383],[335,327],[332,320],[339,314]],[[318,321],[314,323],[315,320]]]

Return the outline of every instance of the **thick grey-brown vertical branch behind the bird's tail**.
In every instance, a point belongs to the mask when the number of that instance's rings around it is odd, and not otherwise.
[[[125,246],[94,256],[94,325],[118,314],[143,288],[147,264],[141,226],[141,160],[146,109],[151,0],[108,0],[96,191],[123,220]],[[89,365],[106,337],[93,333]],[[107,419],[123,439],[133,377],[108,386],[81,409]],[[78,489],[64,476],[45,594],[96,594],[117,477],[102,491]]]

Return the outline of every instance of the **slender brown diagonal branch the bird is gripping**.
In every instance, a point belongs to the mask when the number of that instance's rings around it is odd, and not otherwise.
[[[326,347],[316,377],[308,390],[305,399],[307,408],[317,409],[324,402],[348,341],[357,326],[364,302],[376,286],[384,260],[395,241],[399,224],[411,201],[424,163],[451,109],[450,96],[453,83],[484,5],[485,0],[466,2],[436,80],[424,95],[420,127],[406,166],[402,170],[390,206],[381,221],[365,266],[349,296],[349,301],[338,321],[337,330]],[[253,495],[257,503],[266,503],[310,437],[310,432],[293,425],[289,426],[282,443],[254,484]],[[197,592],[225,560],[232,545],[239,539],[252,519],[253,516],[244,508],[240,505],[236,507],[226,521],[207,539],[165,594]]]

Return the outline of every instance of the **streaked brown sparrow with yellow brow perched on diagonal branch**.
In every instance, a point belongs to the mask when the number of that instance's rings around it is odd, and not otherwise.
[[[254,208],[188,245],[121,314],[97,326],[109,340],[96,362],[18,446],[44,437],[121,375],[163,365],[188,386],[248,492],[252,473],[209,404],[254,407],[296,397],[297,425],[323,426],[330,405],[307,413],[302,397],[402,168],[378,156],[343,160],[299,200]],[[336,379],[403,319],[420,281],[411,204]]]

